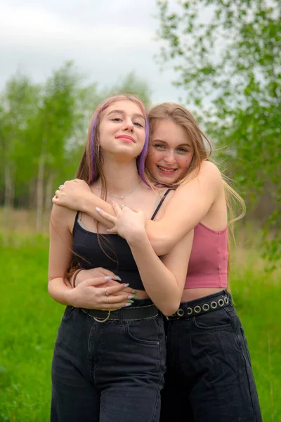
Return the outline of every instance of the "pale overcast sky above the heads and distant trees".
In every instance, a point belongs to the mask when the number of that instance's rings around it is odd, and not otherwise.
[[[176,3],[176,0],[173,0]],[[110,86],[131,70],[147,80],[152,103],[178,101],[171,65],[153,56],[155,0],[0,0],[0,89],[17,70],[42,82],[74,60],[87,82]]]

